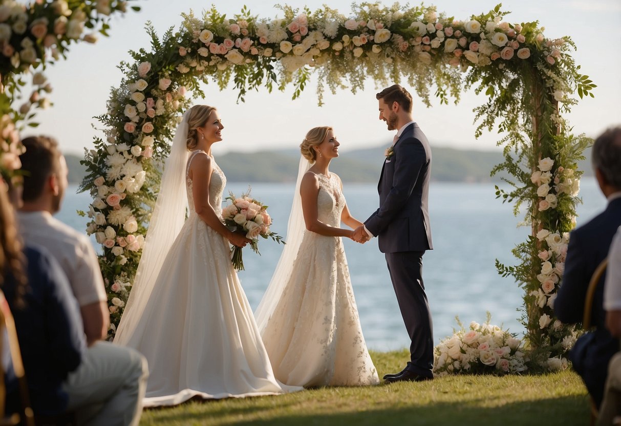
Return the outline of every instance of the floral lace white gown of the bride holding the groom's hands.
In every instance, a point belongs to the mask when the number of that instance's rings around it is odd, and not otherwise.
[[[319,176],[319,220],[340,226],[345,197],[334,173]],[[291,277],[261,337],[276,379],[293,386],[378,384],[366,348],[340,237],[305,230]]]

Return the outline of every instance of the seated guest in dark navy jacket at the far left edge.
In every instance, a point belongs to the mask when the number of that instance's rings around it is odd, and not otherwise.
[[[34,412],[60,414],[68,406],[63,382],[86,353],[78,304],[53,256],[44,248],[23,247],[2,179],[0,286],[15,319]],[[18,384],[10,363],[4,379],[6,412],[18,412]]]

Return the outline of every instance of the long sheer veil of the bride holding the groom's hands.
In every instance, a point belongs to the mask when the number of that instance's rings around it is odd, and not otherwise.
[[[270,320],[271,315],[274,313],[274,309],[276,309],[276,305],[278,305],[284,286],[289,281],[289,278],[291,278],[297,251],[302,243],[302,236],[304,235],[306,224],[304,223],[304,214],[302,213],[300,184],[304,174],[309,168],[311,168],[311,163],[306,160],[304,156],[301,156],[299,168],[297,170],[296,190],[293,193],[291,214],[289,214],[289,222],[287,224],[286,244],[284,245],[283,253],[280,255],[278,265],[276,265],[276,269],[270,280],[270,285],[268,285],[255,311],[256,325],[258,325],[261,334],[263,334],[268,320]]]

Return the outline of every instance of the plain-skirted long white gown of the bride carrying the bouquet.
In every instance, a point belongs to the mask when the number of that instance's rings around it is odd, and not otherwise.
[[[230,261],[229,242],[194,210],[173,243],[143,315],[124,345],[147,357],[145,407],[205,399],[281,394],[301,388],[276,381],[255,318]],[[222,212],[226,178],[212,159],[209,202]]]

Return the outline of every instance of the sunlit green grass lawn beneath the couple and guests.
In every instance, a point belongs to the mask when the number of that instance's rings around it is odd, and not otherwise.
[[[408,353],[372,352],[379,376]],[[145,410],[141,425],[585,425],[589,399],[573,371],[448,376],[421,383],[323,387],[282,396],[191,401]]]

